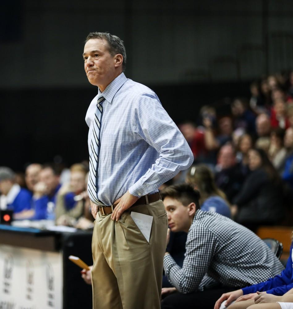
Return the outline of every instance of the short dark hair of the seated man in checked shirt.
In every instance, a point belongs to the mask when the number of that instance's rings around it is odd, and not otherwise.
[[[165,188],[160,194],[162,199],[165,197],[171,197],[177,201],[180,201],[183,206],[187,206],[190,203],[195,203],[196,210],[200,209],[200,194],[189,184],[175,184]]]

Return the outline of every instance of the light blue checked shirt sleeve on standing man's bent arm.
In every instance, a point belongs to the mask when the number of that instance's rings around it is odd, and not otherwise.
[[[193,163],[192,151],[182,133],[162,107],[158,97],[139,95],[133,114],[133,129],[159,153],[151,168],[129,188],[134,196],[145,195]],[[139,194],[140,193],[140,194]]]

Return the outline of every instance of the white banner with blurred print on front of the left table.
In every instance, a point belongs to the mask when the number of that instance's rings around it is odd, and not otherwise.
[[[0,244],[0,308],[62,309],[62,254]]]

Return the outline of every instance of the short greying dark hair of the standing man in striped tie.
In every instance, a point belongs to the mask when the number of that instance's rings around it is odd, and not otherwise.
[[[109,46],[109,53],[112,57],[117,54],[121,54],[123,57],[122,61],[122,69],[125,70],[126,66],[126,50],[124,46],[124,42],[118,37],[110,34],[109,32],[91,32],[88,34],[85,43],[91,39],[100,39],[106,40]]]

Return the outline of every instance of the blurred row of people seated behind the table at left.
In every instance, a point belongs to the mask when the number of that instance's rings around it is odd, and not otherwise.
[[[57,164],[29,164],[25,174],[0,167],[0,209],[15,220],[51,220],[56,225],[93,227],[87,194],[88,164],[60,170]]]

